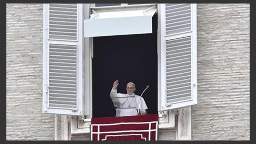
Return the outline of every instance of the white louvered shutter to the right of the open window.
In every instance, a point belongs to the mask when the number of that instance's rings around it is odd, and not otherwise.
[[[196,4],[159,4],[161,97],[158,110],[197,104]]]

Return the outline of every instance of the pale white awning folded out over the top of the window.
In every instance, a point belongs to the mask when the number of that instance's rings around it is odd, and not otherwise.
[[[152,16],[156,4],[91,8],[91,17],[84,20],[84,37],[152,33]]]

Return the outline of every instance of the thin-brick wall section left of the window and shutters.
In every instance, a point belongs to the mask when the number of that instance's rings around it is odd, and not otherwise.
[[[43,4],[6,4],[6,140],[53,140],[42,114]]]

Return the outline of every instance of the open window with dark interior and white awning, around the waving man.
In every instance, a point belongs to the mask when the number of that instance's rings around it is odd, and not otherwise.
[[[92,32],[93,39],[91,37],[92,117],[115,116],[109,93],[116,79],[120,81],[117,88],[120,93],[126,93],[126,84],[131,81],[136,84],[137,95],[150,85],[143,97],[148,105],[148,114],[157,113],[155,12],[156,4],[90,8],[91,17],[84,20],[84,31],[97,32],[97,36]],[[107,21],[111,25],[106,24]],[[87,33],[85,37],[90,35]]]

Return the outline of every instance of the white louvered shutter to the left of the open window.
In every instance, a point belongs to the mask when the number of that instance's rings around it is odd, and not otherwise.
[[[43,113],[82,115],[82,4],[44,4]]]

